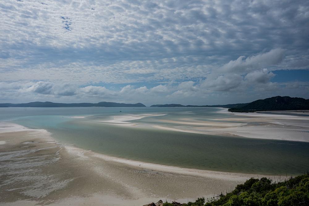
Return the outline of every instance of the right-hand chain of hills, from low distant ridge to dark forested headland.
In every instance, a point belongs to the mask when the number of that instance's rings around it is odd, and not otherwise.
[[[150,107],[223,107],[231,112],[275,111],[275,110],[309,110],[309,99],[298,97],[271,97],[259,99],[251,103],[225,104],[225,105],[181,105],[181,104],[155,104]]]

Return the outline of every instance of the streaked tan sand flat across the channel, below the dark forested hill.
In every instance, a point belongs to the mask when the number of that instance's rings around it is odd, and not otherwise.
[[[221,112],[228,112],[227,110]],[[309,117],[296,116],[300,111],[285,111],[291,115],[262,113],[230,113],[231,118],[201,121],[193,119],[161,120],[180,126],[154,125],[158,129],[200,134],[238,136],[273,140],[309,142]],[[308,114],[308,111],[306,111]],[[292,114],[295,114],[293,116]]]

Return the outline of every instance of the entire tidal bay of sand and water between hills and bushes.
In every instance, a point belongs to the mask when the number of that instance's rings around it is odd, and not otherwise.
[[[3,205],[187,202],[250,177],[284,179],[309,167],[306,116],[220,108],[12,109],[1,108]]]

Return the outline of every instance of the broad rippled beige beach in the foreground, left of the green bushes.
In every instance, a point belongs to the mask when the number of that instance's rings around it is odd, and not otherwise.
[[[258,177],[113,158],[59,145],[46,130],[11,123],[0,123],[0,142],[1,205],[187,202]]]

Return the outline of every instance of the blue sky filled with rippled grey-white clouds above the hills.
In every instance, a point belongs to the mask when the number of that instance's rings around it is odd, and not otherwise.
[[[307,0],[6,0],[0,28],[0,103],[309,99]]]

